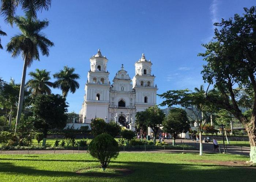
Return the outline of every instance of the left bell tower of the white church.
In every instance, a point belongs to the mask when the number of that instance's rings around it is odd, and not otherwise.
[[[110,81],[107,63],[108,59],[106,56],[102,56],[100,50],[90,58],[90,71],[88,71],[84,88],[85,95],[80,111],[80,122],[90,123],[92,118],[108,117]]]

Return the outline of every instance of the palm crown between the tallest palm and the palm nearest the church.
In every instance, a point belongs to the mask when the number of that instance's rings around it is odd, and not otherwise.
[[[36,69],[35,72],[31,71],[29,75],[32,77],[27,82],[27,86],[32,91],[33,95],[50,94],[53,83],[49,82],[50,71]]]

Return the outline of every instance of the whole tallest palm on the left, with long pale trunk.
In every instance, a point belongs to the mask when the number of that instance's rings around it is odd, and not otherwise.
[[[22,110],[27,67],[32,64],[33,60],[39,60],[38,49],[40,49],[42,55],[49,56],[49,47],[54,46],[54,44],[44,34],[40,33],[42,29],[49,25],[49,21],[34,20],[30,17],[15,17],[14,22],[21,33],[11,38],[6,46],[7,51],[12,53],[12,57],[17,57],[21,53],[24,59],[15,126],[16,132]]]

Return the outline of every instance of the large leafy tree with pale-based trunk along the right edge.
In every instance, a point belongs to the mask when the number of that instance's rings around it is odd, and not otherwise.
[[[207,62],[203,66],[203,79],[221,93],[207,94],[207,99],[234,115],[248,132],[251,162],[256,163],[256,7],[244,8],[241,16],[215,23],[214,40],[204,44],[206,52],[199,54]],[[239,104],[241,97],[236,88],[252,93],[252,115],[246,117]],[[244,97],[246,98],[246,97]]]

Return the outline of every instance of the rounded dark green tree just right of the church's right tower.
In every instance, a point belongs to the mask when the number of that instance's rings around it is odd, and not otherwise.
[[[185,110],[181,108],[175,108],[170,110],[169,115],[163,120],[163,131],[168,132],[173,137],[173,145],[175,145],[175,139],[178,134],[186,133],[189,128],[189,120]]]

